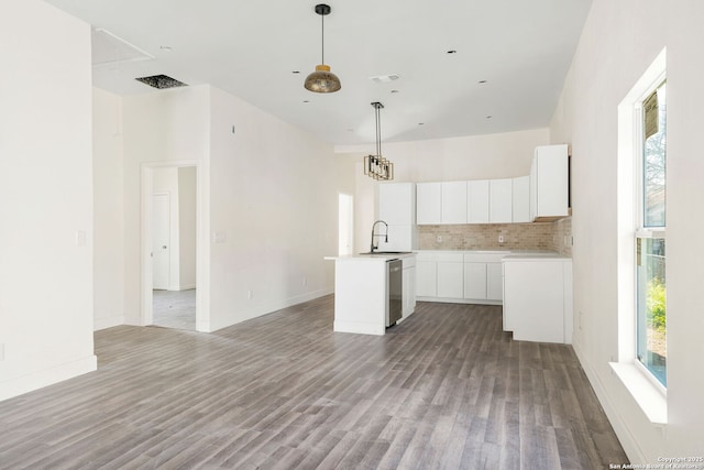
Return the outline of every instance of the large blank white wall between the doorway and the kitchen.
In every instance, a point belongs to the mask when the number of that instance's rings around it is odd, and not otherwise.
[[[218,329],[332,292],[323,256],[337,253],[338,192],[349,186],[337,182],[331,145],[216,88],[210,103]]]

